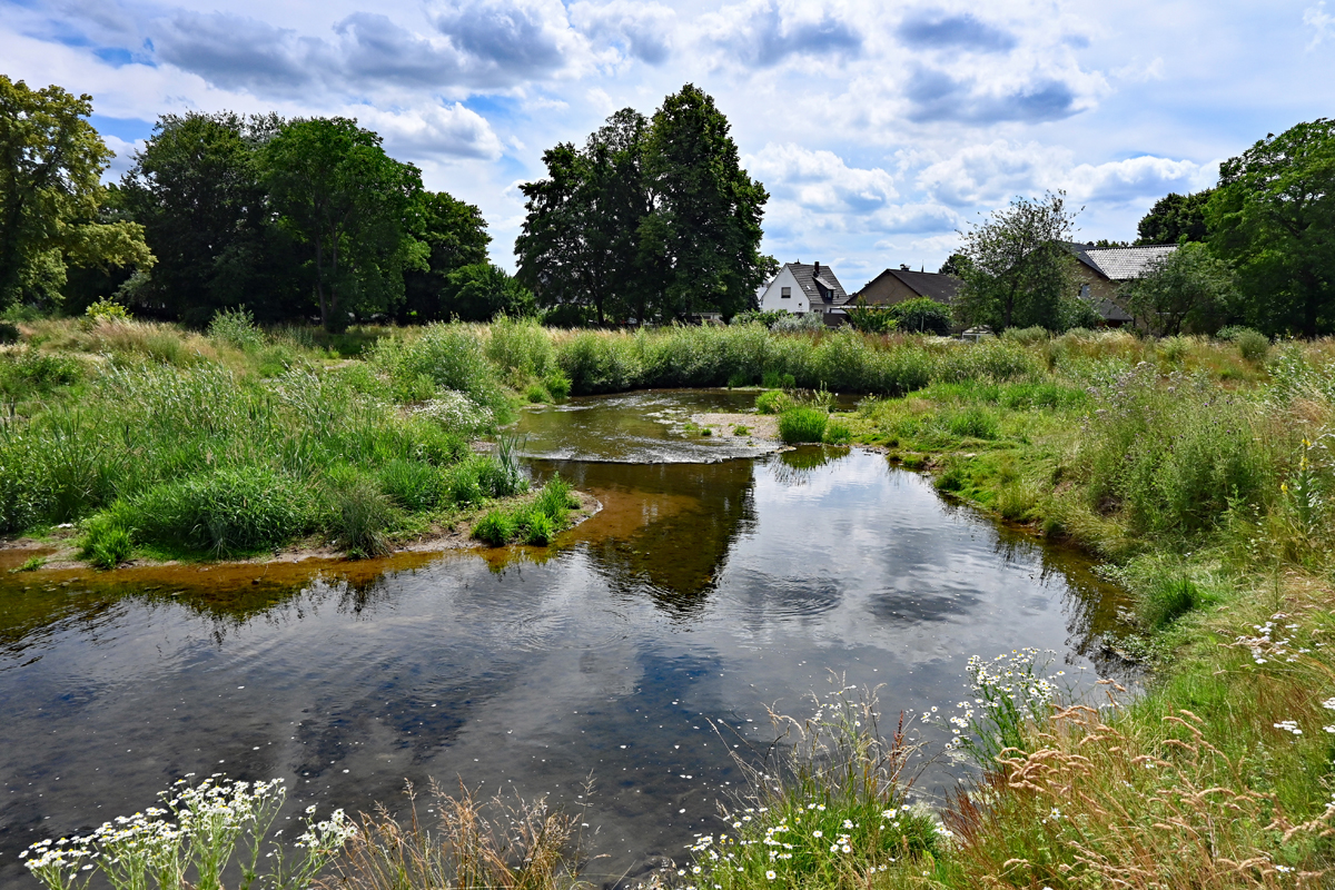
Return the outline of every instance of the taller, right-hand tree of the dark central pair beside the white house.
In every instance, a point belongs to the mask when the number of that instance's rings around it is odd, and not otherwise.
[[[662,276],[665,318],[753,308],[769,268],[760,252],[769,193],[741,168],[728,132],[714,100],[693,84],[654,113],[645,160],[654,209],[639,244]]]

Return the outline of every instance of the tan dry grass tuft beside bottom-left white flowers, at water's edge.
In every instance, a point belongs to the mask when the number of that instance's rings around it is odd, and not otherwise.
[[[382,805],[362,814],[360,830],[335,865],[327,890],[573,890],[578,875],[578,819],[545,799],[479,802],[434,782],[426,813],[413,786],[407,821]],[[435,822],[434,827],[426,825]]]

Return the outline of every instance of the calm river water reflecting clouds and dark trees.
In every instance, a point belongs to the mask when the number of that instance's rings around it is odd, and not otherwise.
[[[550,548],[0,574],[0,885],[36,886],[33,841],[187,773],[283,777],[326,811],[399,806],[406,779],[546,794],[586,806],[589,877],[614,881],[717,830],[741,778],[728,734],[765,741],[766,706],[801,714],[846,682],[892,717],[948,711],[969,655],[1025,646],[1077,686],[1109,670],[1120,592],[1077,554],[873,452],[681,432],[753,402],[526,414],[535,479],[603,504]],[[951,782],[937,765],[917,791]]]

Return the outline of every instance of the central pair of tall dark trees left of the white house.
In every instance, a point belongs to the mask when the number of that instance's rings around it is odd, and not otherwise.
[[[521,187],[515,242],[519,280],[543,306],[587,306],[599,323],[732,316],[774,270],[760,254],[769,195],[692,84],[651,120],[622,109],[582,149],[563,143],[543,163],[547,176]]]

